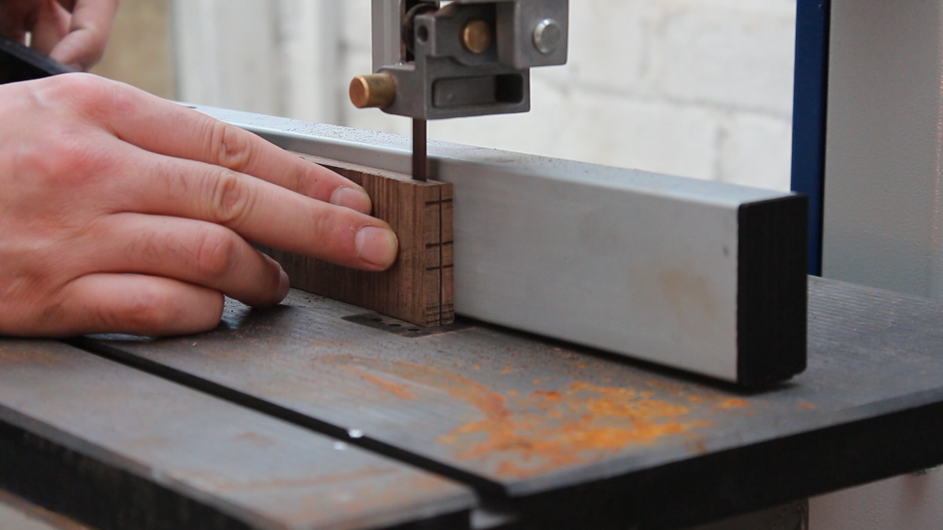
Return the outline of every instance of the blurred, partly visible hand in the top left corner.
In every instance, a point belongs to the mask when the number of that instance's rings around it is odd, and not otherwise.
[[[105,53],[119,0],[0,0],[0,33],[75,70],[90,69]]]

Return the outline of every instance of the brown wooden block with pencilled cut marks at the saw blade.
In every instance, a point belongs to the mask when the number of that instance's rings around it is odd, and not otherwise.
[[[366,273],[273,249],[272,257],[291,277],[291,287],[410,323],[452,323],[455,320],[452,185],[297,155],[363,186],[373,201],[373,216],[389,223],[396,232],[400,255],[389,271]]]

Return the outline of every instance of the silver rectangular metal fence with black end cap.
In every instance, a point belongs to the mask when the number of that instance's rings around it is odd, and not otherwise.
[[[407,137],[197,109],[412,169]],[[441,141],[429,177],[455,185],[458,313],[747,385],[804,368],[803,197]]]

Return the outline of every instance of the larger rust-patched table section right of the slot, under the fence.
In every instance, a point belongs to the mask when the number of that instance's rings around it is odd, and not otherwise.
[[[527,518],[671,527],[943,462],[943,306],[810,282],[809,369],[745,392],[480,323],[409,338],[301,292],[86,347],[435,470]],[[549,518],[549,519],[548,519]]]

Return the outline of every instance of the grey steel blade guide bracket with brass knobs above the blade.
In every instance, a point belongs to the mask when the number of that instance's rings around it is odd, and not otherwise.
[[[566,64],[569,0],[373,0],[373,75],[351,101],[417,120],[530,110],[530,69]]]

